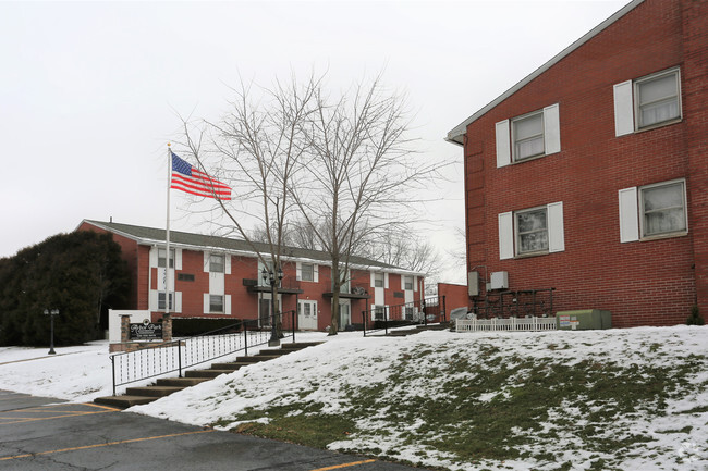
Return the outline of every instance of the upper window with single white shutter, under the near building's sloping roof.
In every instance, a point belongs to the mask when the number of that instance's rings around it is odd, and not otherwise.
[[[670,124],[681,117],[679,67],[614,85],[615,136]]]

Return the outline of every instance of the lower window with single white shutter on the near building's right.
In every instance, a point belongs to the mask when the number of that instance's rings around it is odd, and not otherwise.
[[[619,200],[622,243],[688,232],[683,178],[621,189]]]

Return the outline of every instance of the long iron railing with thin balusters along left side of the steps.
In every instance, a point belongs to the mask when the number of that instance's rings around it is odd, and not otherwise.
[[[297,329],[295,311],[276,314],[274,318],[281,335],[284,335],[281,340],[292,337],[294,343]],[[184,370],[217,358],[240,351],[247,356],[248,348],[266,345],[270,338],[271,330],[259,327],[258,320],[253,319],[200,335],[112,355],[113,396],[118,386],[174,372],[182,377]]]

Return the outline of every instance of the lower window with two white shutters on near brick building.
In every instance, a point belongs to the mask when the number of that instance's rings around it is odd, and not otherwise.
[[[499,258],[565,250],[563,202],[499,214]]]

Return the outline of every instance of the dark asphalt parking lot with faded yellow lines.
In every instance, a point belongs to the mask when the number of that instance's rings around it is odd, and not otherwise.
[[[0,469],[419,470],[8,391],[0,391]]]

